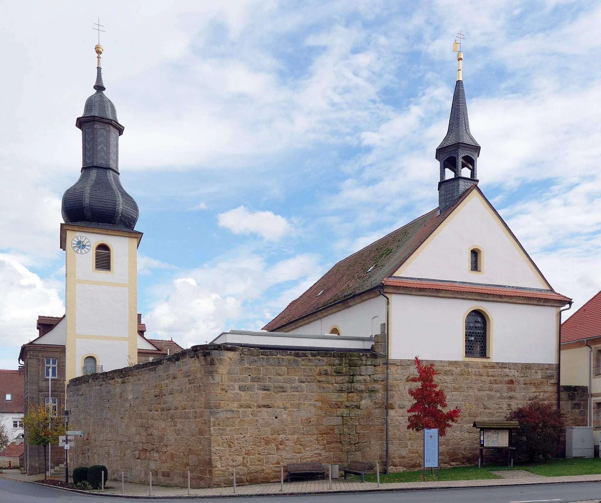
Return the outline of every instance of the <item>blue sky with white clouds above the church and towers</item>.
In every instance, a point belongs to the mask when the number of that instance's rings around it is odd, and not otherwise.
[[[480,188],[573,310],[601,289],[599,2],[2,10],[0,368],[17,368],[38,315],[64,313],[61,197],[81,169],[98,17],[144,233],[147,336],[190,347],[260,329],[335,262],[438,206],[459,30]]]

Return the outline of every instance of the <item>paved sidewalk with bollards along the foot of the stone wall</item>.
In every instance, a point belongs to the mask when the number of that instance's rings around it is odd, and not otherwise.
[[[39,481],[39,475],[21,475],[13,474],[16,470],[5,471],[0,477],[13,478],[14,480]],[[35,478],[33,478],[35,477]],[[284,482],[283,494],[302,494],[302,493],[335,493],[335,492],[361,492],[361,491],[381,491],[381,490],[407,490],[407,489],[449,489],[451,487],[493,487],[493,486],[521,486],[524,484],[552,484],[566,482],[598,482],[601,481],[601,474],[597,475],[566,475],[564,477],[544,477],[528,475],[525,477],[512,477],[503,479],[483,479],[483,480],[453,480],[440,482],[398,482],[390,484],[377,484],[374,482],[361,483],[358,480],[332,480],[332,489],[328,489],[328,480],[307,480],[296,482]],[[191,489],[191,496],[248,496],[248,495],[278,495],[282,494],[280,483],[266,484],[248,484],[246,486],[237,486],[236,493],[233,487],[216,487],[215,489]],[[100,491],[93,491],[94,493]],[[126,482],[124,492],[121,492],[120,480],[109,480],[105,489],[106,495],[125,495],[125,496],[148,496],[148,484],[136,484]],[[188,490],[185,487],[164,487],[154,486],[152,488],[153,496],[187,496]],[[599,500],[594,500],[594,503]]]

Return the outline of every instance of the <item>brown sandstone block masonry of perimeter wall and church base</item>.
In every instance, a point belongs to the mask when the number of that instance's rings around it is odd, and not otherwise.
[[[432,363],[432,362],[426,362]],[[459,423],[441,439],[441,466],[474,464],[475,419],[504,419],[531,400],[555,402],[557,367],[433,362]],[[72,379],[70,428],[84,431],[70,466],[105,464],[145,482],[193,487],[279,480],[291,461],[385,467],[385,358],[364,352],[195,346],[160,360]],[[391,471],[421,467],[407,431],[412,360],[390,362]]]

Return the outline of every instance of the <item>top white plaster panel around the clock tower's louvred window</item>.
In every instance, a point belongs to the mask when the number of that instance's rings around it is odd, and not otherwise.
[[[84,253],[83,255],[76,254],[75,268],[77,279],[127,283],[127,251],[129,238],[89,232],[84,232],[81,235],[90,239],[92,248],[88,253]],[[111,272],[97,273],[94,271],[94,247],[98,244],[98,241],[106,242],[112,248],[113,271]],[[69,243],[69,246],[70,245],[71,244]]]

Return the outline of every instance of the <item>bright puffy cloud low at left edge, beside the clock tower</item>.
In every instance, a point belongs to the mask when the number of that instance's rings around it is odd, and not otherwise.
[[[0,255],[0,366],[16,368],[19,347],[38,336],[38,315],[63,316],[58,291],[15,258]]]

